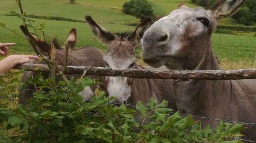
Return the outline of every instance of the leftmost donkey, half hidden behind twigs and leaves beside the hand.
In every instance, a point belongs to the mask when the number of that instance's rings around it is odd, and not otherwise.
[[[28,34],[30,34],[35,41],[36,48],[38,51],[47,56],[48,52],[50,52],[50,49],[48,49],[49,44],[45,43],[44,40],[39,40],[36,36],[32,35],[31,33],[27,33],[25,30],[25,27],[23,25],[20,26],[20,29],[24,33],[24,35],[27,37]],[[102,60],[104,53],[97,49],[96,47],[92,46],[84,46],[77,50],[73,50],[74,46],[76,45],[76,30],[73,28],[67,37],[67,44],[69,45],[70,50],[68,50],[68,66],[92,66],[92,67],[105,67],[105,62]],[[59,59],[64,61],[65,59],[65,48],[61,47],[57,43],[54,44],[55,46],[55,52],[56,52],[56,61],[57,64],[60,65]],[[45,48],[47,47],[47,48]],[[37,64],[46,64],[45,61],[39,61],[39,60],[31,60],[30,63],[37,63]],[[26,80],[27,76],[35,76],[38,74],[38,72],[34,71],[25,71],[21,77],[21,82],[24,82]],[[42,76],[45,78],[49,78],[50,74],[46,72],[42,72]],[[65,75],[65,77],[69,80],[71,76],[74,76],[75,79],[81,77],[81,74],[71,74],[71,75]],[[106,80],[105,76],[88,76],[90,78],[99,78],[99,81],[103,83],[103,85],[100,85],[101,90],[106,91]],[[56,82],[62,81],[60,77],[56,77]],[[96,88],[96,86],[93,87],[87,87],[85,90],[83,90],[80,94],[83,95],[85,99],[90,99],[90,97],[93,95],[93,92]],[[35,90],[34,85],[29,84],[26,89]],[[20,100],[25,100],[27,98],[31,98],[33,96],[33,91],[30,90],[22,90],[20,91]]]

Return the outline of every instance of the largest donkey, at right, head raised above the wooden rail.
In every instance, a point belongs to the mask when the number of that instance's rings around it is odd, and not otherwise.
[[[211,34],[222,17],[236,12],[245,0],[221,0],[213,9],[181,4],[155,22],[141,40],[144,62],[176,70],[219,70]],[[223,45],[224,46],[224,45]],[[175,101],[186,114],[256,122],[256,80],[189,80],[174,83]],[[202,120],[216,127],[216,121]],[[256,126],[247,125],[244,139],[256,141]]]

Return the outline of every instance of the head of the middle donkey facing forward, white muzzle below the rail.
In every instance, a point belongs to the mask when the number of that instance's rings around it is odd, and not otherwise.
[[[150,18],[145,18],[132,33],[121,33],[119,36],[100,27],[92,17],[85,18],[97,39],[108,45],[103,58],[107,68],[138,68],[135,46],[139,44],[144,32],[150,27]],[[106,81],[109,95],[116,97],[113,102],[126,103],[131,96],[133,78],[106,76]]]

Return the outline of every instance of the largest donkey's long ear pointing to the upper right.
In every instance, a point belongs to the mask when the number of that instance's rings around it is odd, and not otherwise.
[[[216,20],[228,17],[236,13],[236,10],[242,6],[245,0],[221,0],[212,9],[211,12]]]

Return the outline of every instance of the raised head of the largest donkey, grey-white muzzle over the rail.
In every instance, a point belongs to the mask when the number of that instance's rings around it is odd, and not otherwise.
[[[144,33],[141,40],[144,62],[152,67],[197,69],[212,53],[211,33],[218,21],[234,14],[244,1],[221,0],[211,10],[188,8],[182,3]]]

